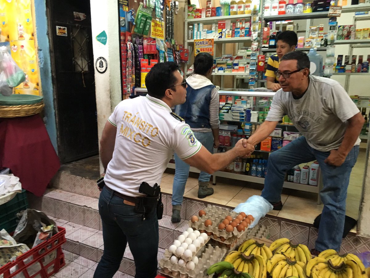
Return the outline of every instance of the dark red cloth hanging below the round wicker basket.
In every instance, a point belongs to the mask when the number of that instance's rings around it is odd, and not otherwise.
[[[0,167],[19,177],[23,189],[43,195],[60,161],[40,115],[0,118]]]

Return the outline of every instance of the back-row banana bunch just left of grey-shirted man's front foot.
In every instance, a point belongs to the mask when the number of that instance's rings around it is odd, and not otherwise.
[[[273,254],[283,254],[292,261],[307,264],[312,256],[308,247],[304,244],[292,244],[287,238],[279,238],[270,245]]]

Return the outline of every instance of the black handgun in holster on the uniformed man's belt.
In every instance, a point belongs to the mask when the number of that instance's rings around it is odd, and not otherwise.
[[[143,215],[143,220],[151,215],[154,209],[157,210],[157,218],[162,219],[163,215],[163,203],[161,187],[157,183],[154,186],[150,186],[147,182],[142,182],[139,187],[139,193],[144,193],[147,196],[138,197],[139,202],[135,205],[135,209],[138,213]]]

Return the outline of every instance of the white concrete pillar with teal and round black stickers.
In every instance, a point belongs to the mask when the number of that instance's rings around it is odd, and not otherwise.
[[[120,65],[120,32],[118,18],[118,0],[91,0],[91,30],[92,48],[94,52],[95,95],[98,120],[98,138],[114,107],[122,100],[121,65]],[[107,43],[104,45],[96,39],[103,31],[107,34]],[[103,57],[104,73],[100,73],[95,66],[97,60]],[[99,61],[97,66],[99,67]],[[100,146],[99,146],[100,148]],[[100,172],[103,172],[100,164]]]

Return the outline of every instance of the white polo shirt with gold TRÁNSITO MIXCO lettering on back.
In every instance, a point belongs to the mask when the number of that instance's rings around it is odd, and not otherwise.
[[[117,127],[105,184],[124,195],[141,196],[139,186],[160,185],[174,152],[186,159],[201,149],[189,125],[175,119],[171,108],[149,95],[122,100],[108,121]]]

